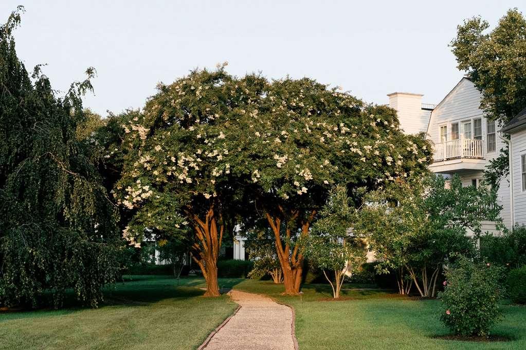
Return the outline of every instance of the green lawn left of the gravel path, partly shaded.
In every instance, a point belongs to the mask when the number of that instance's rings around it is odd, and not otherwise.
[[[0,313],[0,348],[196,348],[237,304],[176,285],[148,276],[118,283],[98,309]]]

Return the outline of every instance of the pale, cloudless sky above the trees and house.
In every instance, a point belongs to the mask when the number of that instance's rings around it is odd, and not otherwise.
[[[105,116],[143,107],[158,82],[228,61],[236,76],[310,77],[372,103],[395,91],[439,103],[462,78],[448,47],[457,25],[492,27],[515,1],[0,1],[0,22],[24,5],[15,31],[28,70],[64,94],[94,67],[84,106]]]

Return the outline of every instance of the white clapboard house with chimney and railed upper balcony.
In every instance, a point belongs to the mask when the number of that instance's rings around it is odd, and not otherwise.
[[[394,93],[388,96],[389,105],[397,109],[401,128],[406,132],[421,131],[424,112],[430,110],[426,130],[428,139],[434,144],[433,163],[429,167],[433,173],[446,177],[457,174],[464,186],[482,184],[485,166],[498,156],[505,144],[497,133],[495,122],[487,120],[480,110],[480,92],[470,79],[462,78],[436,106],[421,104],[417,97],[422,95],[418,94]],[[418,103],[406,102],[408,99],[418,100]],[[410,108],[401,109],[400,105]],[[503,206],[503,223],[510,227],[508,179],[501,180],[498,201]],[[494,222],[483,222],[482,230],[494,232]]]

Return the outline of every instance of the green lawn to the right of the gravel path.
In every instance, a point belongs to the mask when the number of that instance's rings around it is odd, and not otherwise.
[[[199,280],[186,280],[199,285]],[[345,290],[332,301],[330,287],[304,285],[301,296],[282,296],[281,285],[270,281],[220,279],[224,288],[264,293],[294,307],[296,337],[301,349],[526,349],[526,307],[503,304],[502,322],[492,334],[509,342],[473,343],[433,338],[448,329],[438,320],[438,300],[401,298],[380,290]],[[347,285],[347,287],[357,287]],[[362,287],[362,286],[358,286]]]

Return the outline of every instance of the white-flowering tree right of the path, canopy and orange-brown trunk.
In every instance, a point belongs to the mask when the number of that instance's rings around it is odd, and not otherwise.
[[[299,292],[304,256],[299,237],[335,184],[353,204],[363,190],[426,171],[430,145],[399,129],[396,111],[365,105],[311,79],[266,83],[259,102],[237,110],[231,164],[274,232],[286,294]]]

